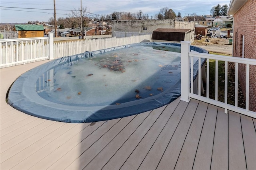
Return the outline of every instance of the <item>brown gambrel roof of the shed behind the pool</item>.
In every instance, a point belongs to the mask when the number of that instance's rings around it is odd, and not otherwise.
[[[158,28],[153,31],[151,39],[180,42],[184,41],[185,33],[189,32],[190,30],[191,29]]]

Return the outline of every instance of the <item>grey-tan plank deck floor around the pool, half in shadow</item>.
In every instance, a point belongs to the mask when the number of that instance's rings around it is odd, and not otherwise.
[[[255,170],[256,119],[192,99],[122,119],[70,124],[6,104],[6,91],[40,61],[0,69],[0,169]]]

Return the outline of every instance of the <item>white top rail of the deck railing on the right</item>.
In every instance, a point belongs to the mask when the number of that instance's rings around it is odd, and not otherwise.
[[[231,56],[225,56],[225,55],[215,55],[215,54],[196,53],[196,52],[189,52],[188,55],[192,57],[201,57],[201,58],[208,58],[208,59],[216,59],[220,61],[256,65],[256,59],[250,59],[250,58],[231,57]]]

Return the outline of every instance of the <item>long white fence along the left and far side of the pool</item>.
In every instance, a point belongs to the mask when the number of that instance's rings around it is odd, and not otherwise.
[[[96,51],[139,42],[150,42],[151,36],[150,34],[54,43],[53,33],[50,32],[49,37],[0,40],[0,68],[76,55],[85,51]]]

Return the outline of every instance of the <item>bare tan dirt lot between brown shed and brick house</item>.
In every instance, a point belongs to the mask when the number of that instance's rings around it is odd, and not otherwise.
[[[206,42],[206,37],[201,40],[194,40],[192,45],[206,49],[215,53],[224,53],[232,55],[232,45],[229,44],[229,39],[226,38],[209,38],[210,42]]]

